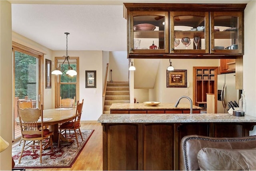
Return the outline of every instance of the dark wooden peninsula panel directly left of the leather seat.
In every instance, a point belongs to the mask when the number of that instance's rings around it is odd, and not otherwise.
[[[143,170],[174,170],[174,125],[143,125]]]

